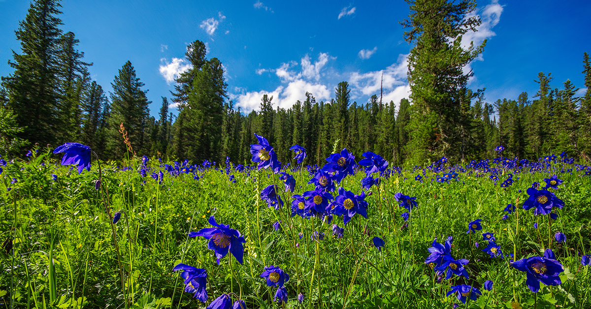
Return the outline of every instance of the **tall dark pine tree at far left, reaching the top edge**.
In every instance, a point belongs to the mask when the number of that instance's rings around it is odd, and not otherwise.
[[[16,125],[23,128],[17,136],[41,145],[57,142],[59,122],[59,53],[61,20],[56,15],[56,0],[31,3],[27,17],[15,31],[21,42],[21,53],[14,51],[8,63],[14,72],[2,77],[8,92],[8,105],[14,112]]]

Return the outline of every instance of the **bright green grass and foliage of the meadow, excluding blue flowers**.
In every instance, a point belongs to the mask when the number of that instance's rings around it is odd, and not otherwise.
[[[126,171],[102,162],[100,194],[94,183],[99,178],[96,161],[91,171],[79,175],[75,168],[57,165],[58,159],[44,153],[2,167],[0,237],[6,242],[0,307],[206,307],[183,292],[183,279],[172,271],[179,262],[207,270],[209,302],[233,292],[232,301],[241,295],[248,308],[452,308],[453,303],[460,308],[511,308],[512,301],[523,308],[533,308],[534,301],[537,308],[591,306],[589,266],[580,263],[580,255],[590,253],[591,178],[576,168],[572,174],[560,173],[574,165],[555,164],[553,170],[533,174],[505,170],[501,180],[508,173],[515,179],[506,190],[488,174],[459,173],[459,181],[439,183],[431,181],[434,177],[427,171],[420,183],[414,177],[422,170],[405,169],[384,179],[379,190],[369,190],[368,219],[357,214],[345,227],[345,236],[337,239],[331,236],[332,224],[343,227],[342,218],[335,217],[329,225],[318,218],[291,217],[291,193],[282,193],[281,210],[268,208],[260,191],[282,184],[267,170],[238,173],[232,166],[232,183],[225,167],[199,171],[200,179],[195,180],[193,174],[168,174],[157,159],[149,162],[147,177],[138,173],[139,160]],[[164,172],[161,185],[150,177],[158,170]],[[297,180],[294,194],[313,190],[306,184],[310,175],[305,169],[288,173]],[[536,217],[521,204],[534,181],[544,184],[543,178],[552,174],[564,180],[554,193],[566,206],[557,211],[558,220],[548,231],[548,216]],[[11,184],[13,177],[17,183]],[[340,186],[359,194],[363,177],[359,171]],[[405,227],[400,215],[406,210],[394,200],[398,192],[417,197],[418,207]],[[518,211],[502,220],[509,203]],[[123,215],[113,226],[115,212]],[[230,269],[228,256],[217,265],[208,240],[187,237],[190,231],[210,227],[207,219],[212,215],[245,236],[243,265],[232,257]],[[482,219],[482,231],[466,234],[467,223],[475,219]],[[281,229],[275,231],[272,223],[278,220]],[[324,240],[312,240],[315,231],[324,233]],[[543,286],[537,300],[525,285],[525,274],[511,268],[509,258],[489,258],[482,252],[486,245],[481,234],[493,232],[504,253],[514,253],[517,259],[540,256],[558,231],[566,234],[566,243],[553,242],[551,248],[564,265],[563,283]],[[372,245],[374,236],[385,240],[381,252]],[[454,276],[438,283],[435,272],[424,264],[433,240],[443,243],[447,236],[454,239],[454,258],[470,260],[469,279]],[[290,275],[285,284],[287,304],[274,303],[276,288],[267,287],[259,277],[268,265],[280,266]],[[494,282],[492,292],[482,288],[487,279]],[[467,305],[453,295],[446,297],[458,284],[473,285],[483,295]],[[302,304],[297,301],[300,292]]]

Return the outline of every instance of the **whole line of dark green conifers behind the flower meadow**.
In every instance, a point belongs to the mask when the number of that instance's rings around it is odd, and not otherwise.
[[[494,148],[498,145],[504,145],[506,157],[530,160],[551,152],[566,151],[585,159],[591,154],[587,53],[583,57],[584,97],[575,96],[578,89],[569,80],[560,89],[552,88],[551,74],[540,73],[540,89],[534,96],[522,93],[518,100],[488,103],[484,90],[467,89],[469,74],[462,73],[463,64],[454,64],[455,71],[428,67],[429,63],[421,63],[421,55],[434,51],[415,47],[409,74],[412,105],[408,99],[382,102],[377,95],[366,103],[351,102],[349,84],[342,82],[330,102],[316,102],[313,94],[306,93],[303,102],[282,109],[275,108],[273,98],[264,95],[259,111],[245,115],[228,100],[220,61],[207,59],[205,45],[194,41],[186,53],[191,69],[177,77],[170,97],[178,106],[178,116],[173,117],[168,110],[171,102],[163,97],[156,119],[148,110],[148,90],[129,61],[115,76],[112,93],[105,93],[90,79],[88,67],[92,63],[83,61],[84,53],[77,50],[79,41],[72,32],[64,34],[59,28],[59,7],[56,0],[33,2],[15,31],[21,54],[14,53],[9,61],[14,72],[2,77],[0,88],[3,154],[22,155],[36,143],[55,146],[77,141],[92,147],[101,158],[119,161],[129,155],[155,155],[196,163],[222,162],[228,156],[243,162],[251,158],[249,145],[256,143],[254,133],[271,142],[282,162],[293,157],[292,145],[303,146],[307,164],[321,163],[342,148],[358,157],[365,151],[376,152],[397,165],[423,164],[441,155],[454,161],[491,158],[497,155]],[[411,9],[421,8],[415,5]],[[454,14],[465,14],[469,7],[458,10]],[[432,21],[410,17],[414,23],[407,27],[428,31],[421,22]],[[466,26],[454,27],[461,30]],[[421,38],[418,32],[407,33],[410,41]],[[441,40],[454,35],[441,35]],[[426,48],[427,44],[420,46]],[[468,63],[482,48],[467,56],[462,54],[466,51],[454,52]],[[421,74],[429,70],[455,72],[456,80],[440,78],[451,80],[453,86],[425,84],[429,79]]]

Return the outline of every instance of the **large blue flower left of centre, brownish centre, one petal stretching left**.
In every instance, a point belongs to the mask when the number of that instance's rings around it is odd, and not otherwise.
[[[215,227],[206,227],[197,232],[190,232],[189,237],[201,236],[209,239],[207,248],[215,252],[218,265],[220,259],[226,256],[228,251],[236,258],[236,261],[242,264],[242,256],[244,255],[242,243],[245,243],[246,240],[240,235],[240,232],[230,229],[229,225],[218,225],[213,216],[209,217],[208,222]]]

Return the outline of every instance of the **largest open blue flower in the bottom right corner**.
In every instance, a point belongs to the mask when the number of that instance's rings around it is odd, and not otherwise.
[[[511,263],[511,266],[527,275],[525,284],[534,293],[540,290],[540,282],[545,285],[561,284],[562,264],[554,259],[554,252],[546,249],[544,256],[532,256]]]

